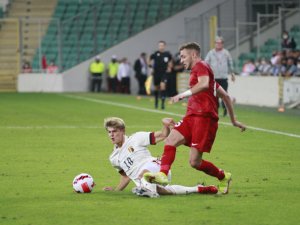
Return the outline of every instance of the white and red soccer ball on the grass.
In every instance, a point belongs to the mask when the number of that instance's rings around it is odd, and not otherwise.
[[[94,186],[92,176],[87,173],[81,173],[73,180],[73,189],[77,193],[90,193]]]

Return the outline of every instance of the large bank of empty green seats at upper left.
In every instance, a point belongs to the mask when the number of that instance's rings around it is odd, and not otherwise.
[[[197,2],[199,0],[58,1],[42,41],[42,50],[36,51],[32,66],[40,68],[42,52],[48,61],[61,62],[62,70],[66,70]]]

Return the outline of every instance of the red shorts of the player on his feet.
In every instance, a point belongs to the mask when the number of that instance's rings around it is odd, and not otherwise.
[[[185,138],[185,145],[210,152],[218,130],[218,120],[210,117],[185,116],[175,128]]]

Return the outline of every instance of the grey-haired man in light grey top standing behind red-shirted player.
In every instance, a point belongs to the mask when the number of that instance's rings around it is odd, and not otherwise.
[[[205,61],[211,66],[215,80],[221,85],[221,87],[227,92],[228,90],[228,74],[231,74],[231,80],[235,81],[235,75],[233,72],[232,57],[227,49],[224,48],[223,37],[216,37],[215,48],[210,50]],[[218,100],[219,108],[219,100]],[[222,101],[223,116],[227,115],[227,109]]]

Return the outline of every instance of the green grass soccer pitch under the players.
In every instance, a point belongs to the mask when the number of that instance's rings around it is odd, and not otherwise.
[[[236,106],[238,120],[250,127],[244,133],[220,119],[204,158],[232,173],[228,195],[140,198],[132,183],[123,192],[102,191],[119,181],[103,119],[122,117],[131,134],[159,130],[163,117],[178,121],[185,112],[181,104],[165,111],[153,105],[151,98],[122,95],[0,94],[0,224],[299,224],[299,110]],[[150,150],[159,156],[163,144]],[[178,148],[172,183],[218,184],[190,168],[188,156],[187,147]],[[94,178],[91,194],[72,190],[82,172]]]

